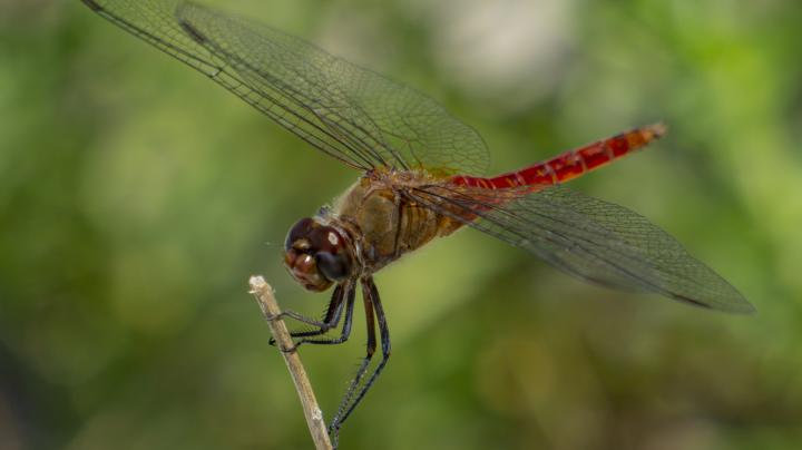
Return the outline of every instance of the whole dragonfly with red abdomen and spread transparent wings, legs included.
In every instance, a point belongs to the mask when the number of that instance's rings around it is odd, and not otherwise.
[[[464,227],[587,282],[731,313],[754,311],[645,217],[564,186],[658,139],[663,124],[488,177],[489,151],[473,128],[417,90],[305,40],[189,1],[81,1],[360,172],[332,206],[292,226],[283,255],[304,288],[334,287],[322,319],[282,313],[305,324],[292,333],[296,346],[346,342],[355,292],[362,293],[366,353],[329,427],[333,436],[390,358],[390,330],[373,275]],[[338,329],[338,335],[330,333]],[[381,359],[371,369],[379,346]]]

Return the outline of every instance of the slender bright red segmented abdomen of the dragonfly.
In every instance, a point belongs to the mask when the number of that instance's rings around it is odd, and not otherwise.
[[[565,183],[645,147],[651,141],[663,136],[665,131],[666,127],[663,124],[649,125],[566,151],[520,170],[501,174],[492,178],[459,175],[451,178],[451,182],[458,185],[488,189],[548,186]]]

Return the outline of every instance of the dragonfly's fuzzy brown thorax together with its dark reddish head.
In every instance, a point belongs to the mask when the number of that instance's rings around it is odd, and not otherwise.
[[[430,182],[414,173],[369,174],[332,208],[299,221],[284,244],[284,264],[310,291],[372,274],[461,224],[415,204],[403,190]]]

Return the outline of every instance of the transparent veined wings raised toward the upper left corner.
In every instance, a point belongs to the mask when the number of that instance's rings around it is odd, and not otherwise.
[[[481,137],[434,100],[302,39],[192,2],[81,1],[352,167],[487,168]]]

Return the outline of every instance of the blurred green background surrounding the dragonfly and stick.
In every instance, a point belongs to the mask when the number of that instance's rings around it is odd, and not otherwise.
[[[466,231],[378,275],[393,358],[342,448],[802,446],[802,3],[216,4],[430,94],[493,172],[665,119],[571,186],[759,310],[587,285]],[[246,280],[320,312],[281,244],[356,175],[79,1],[0,0],[0,448],[310,448]],[[329,418],[355,317],[302,350]]]

